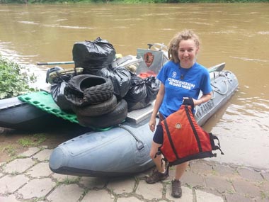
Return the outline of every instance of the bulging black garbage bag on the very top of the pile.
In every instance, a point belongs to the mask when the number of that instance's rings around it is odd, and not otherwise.
[[[98,69],[108,67],[116,54],[113,45],[100,37],[94,41],[75,43],[72,53],[75,67],[84,67],[87,74],[94,74]]]

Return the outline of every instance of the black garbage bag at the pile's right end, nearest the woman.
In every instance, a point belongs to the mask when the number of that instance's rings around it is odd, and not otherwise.
[[[131,86],[124,99],[127,101],[128,112],[144,108],[156,99],[159,91],[159,80],[155,77],[142,79],[132,74]]]

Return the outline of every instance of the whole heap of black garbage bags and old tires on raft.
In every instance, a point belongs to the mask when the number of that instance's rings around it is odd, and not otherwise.
[[[81,125],[118,125],[127,112],[156,99],[159,81],[154,76],[139,77],[125,67],[113,67],[116,52],[108,40],[75,43],[72,54],[75,67],[48,69],[46,82],[51,84],[52,98],[59,108],[76,113]]]

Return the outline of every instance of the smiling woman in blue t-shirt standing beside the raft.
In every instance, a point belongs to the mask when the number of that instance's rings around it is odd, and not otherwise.
[[[183,30],[177,33],[168,45],[170,60],[164,64],[157,75],[157,79],[161,81],[161,86],[149,120],[149,128],[152,132],[156,127],[149,154],[156,164],[156,171],[147,177],[146,181],[149,184],[154,184],[168,177],[164,165],[161,163],[161,155],[156,155],[163,142],[164,132],[161,120],[178,111],[183,99],[192,98],[194,106],[211,99],[210,72],[196,62],[199,47],[198,35],[192,30]],[[202,91],[202,96],[198,99],[200,91]],[[159,123],[156,125],[158,112]],[[182,196],[181,177],[187,167],[188,162],[176,165],[171,194],[175,198]]]

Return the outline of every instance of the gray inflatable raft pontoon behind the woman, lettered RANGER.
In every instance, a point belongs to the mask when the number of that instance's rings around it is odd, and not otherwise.
[[[207,103],[196,106],[195,118],[203,125],[231,98],[238,87],[229,71],[211,72],[214,94]],[[128,113],[122,125],[102,132],[89,132],[63,142],[50,156],[50,169],[58,174],[77,176],[125,176],[154,166],[149,157],[153,133],[147,108]]]

